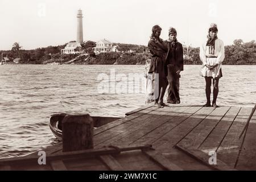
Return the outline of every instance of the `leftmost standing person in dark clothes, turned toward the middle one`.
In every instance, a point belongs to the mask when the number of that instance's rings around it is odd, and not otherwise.
[[[162,28],[158,25],[152,27],[152,35],[148,42],[148,49],[152,55],[150,69],[148,73],[152,73],[152,81],[154,88],[155,106],[167,106],[163,103],[164,92],[167,86],[167,67],[166,67],[166,52],[167,47],[163,40],[159,38]]]

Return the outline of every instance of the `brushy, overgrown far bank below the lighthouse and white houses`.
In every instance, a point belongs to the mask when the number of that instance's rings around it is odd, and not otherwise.
[[[33,50],[10,50],[2,51],[3,57],[8,57],[9,63],[17,57],[20,57],[19,64],[121,64],[121,65],[136,65],[144,64],[147,59],[151,59],[151,55],[147,47],[138,45],[121,44],[122,52],[107,52],[95,55],[92,51],[93,42],[86,42],[84,55],[64,54],[61,55],[60,50],[65,47],[49,46],[47,48],[37,48]],[[121,50],[122,50],[121,49]],[[133,50],[129,52],[127,50]],[[184,64],[200,65],[199,48],[184,47]],[[86,54],[85,54],[86,53]],[[225,59],[222,64],[226,65],[256,65],[256,43],[234,42],[232,46],[225,46]]]

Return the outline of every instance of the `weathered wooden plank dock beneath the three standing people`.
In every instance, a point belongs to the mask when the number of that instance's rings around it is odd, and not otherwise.
[[[94,130],[93,150],[62,152],[62,143],[0,159],[0,170],[255,170],[256,113],[253,107],[143,106]],[[210,151],[217,164],[210,164]]]

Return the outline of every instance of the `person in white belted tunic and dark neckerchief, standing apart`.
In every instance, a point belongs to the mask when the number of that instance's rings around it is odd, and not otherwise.
[[[203,67],[200,70],[200,75],[205,78],[205,94],[207,104],[204,107],[210,107],[210,86],[213,80],[213,101],[212,106],[218,107],[216,104],[218,96],[218,81],[222,77],[221,63],[225,57],[224,43],[217,37],[217,24],[210,24],[207,38],[200,47],[200,60],[203,62]]]

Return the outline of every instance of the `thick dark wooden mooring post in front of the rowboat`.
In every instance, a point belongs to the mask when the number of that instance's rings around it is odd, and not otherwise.
[[[62,122],[63,152],[93,148],[93,119],[89,114],[67,114]]]

